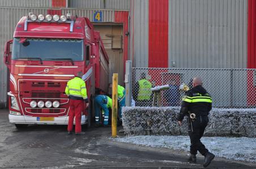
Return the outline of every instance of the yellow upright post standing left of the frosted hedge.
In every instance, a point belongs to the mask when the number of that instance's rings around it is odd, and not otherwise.
[[[112,137],[117,136],[117,84],[118,74],[113,73],[112,79]]]

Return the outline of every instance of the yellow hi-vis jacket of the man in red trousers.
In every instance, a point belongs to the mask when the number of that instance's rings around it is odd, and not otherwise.
[[[87,99],[86,83],[80,77],[75,77],[67,82],[65,93],[73,100],[85,100]]]

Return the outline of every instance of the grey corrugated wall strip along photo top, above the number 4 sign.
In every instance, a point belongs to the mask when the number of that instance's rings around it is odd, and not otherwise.
[[[69,0],[70,8],[130,10],[130,0]]]

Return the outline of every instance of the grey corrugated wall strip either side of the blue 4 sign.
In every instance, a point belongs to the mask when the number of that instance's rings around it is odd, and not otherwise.
[[[85,16],[89,20],[93,21],[93,12],[97,10],[75,10],[75,9],[63,9],[62,14],[70,13],[71,15]],[[103,12],[103,22],[114,22],[114,11],[112,10],[101,10]]]

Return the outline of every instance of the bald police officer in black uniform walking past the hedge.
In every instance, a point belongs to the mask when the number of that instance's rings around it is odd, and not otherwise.
[[[193,79],[193,88],[186,91],[182,99],[178,123],[182,124],[185,115],[189,117],[189,137],[190,137],[190,162],[197,162],[197,151],[204,155],[203,167],[207,167],[215,155],[208,152],[206,147],[201,143],[204,130],[208,123],[208,114],[212,108],[212,99],[210,94],[202,87],[202,79],[195,77]]]

